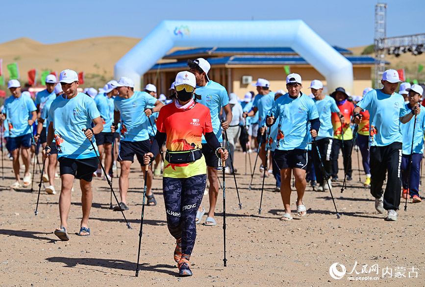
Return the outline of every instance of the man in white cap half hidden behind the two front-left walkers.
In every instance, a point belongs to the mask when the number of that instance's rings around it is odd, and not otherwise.
[[[111,165],[112,165],[112,143],[114,142],[114,134],[111,131],[112,121],[114,120],[114,98],[113,96],[118,95],[117,87],[113,84],[117,83],[117,81],[112,80],[109,81],[104,89],[104,94],[99,94],[95,97],[96,107],[100,113],[100,119],[103,123],[103,130],[95,135],[96,144],[99,149],[99,157],[100,161],[102,161],[103,151],[105,151],[105,170],[108,173]],[[99,165],[98,174],[102,174],[101,167]],[[110,179],[109,174],[104,174],[105,178],[108,177]]]

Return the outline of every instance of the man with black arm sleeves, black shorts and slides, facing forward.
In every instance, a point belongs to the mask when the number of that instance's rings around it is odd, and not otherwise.
[[[282,197],[285,214],[280,220],[291,220],[291,175],[295,176],[297,189],[297,215],[304,216],[307,209],[302,201],[305,186],[305,169],[307,167],[307,122],[310,121],[312,137],[317,136],[320,127],[319,114],[314,101],[302,94],[301,76],[296,73],[286,77],[288,93],[280,96],[274,103],[267,118],[267,125],[275,124],[279,118],[274,160],[280,169],[280,195]]]

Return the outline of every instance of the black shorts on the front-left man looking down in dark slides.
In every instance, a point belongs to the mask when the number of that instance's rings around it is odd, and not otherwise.
[[[72,174],[76,179],[83,179],[88,182],[92,181],[93,172],[98,169],[99,165],[97,157],[87,159],[60,157],[58,162],[60,175]]]

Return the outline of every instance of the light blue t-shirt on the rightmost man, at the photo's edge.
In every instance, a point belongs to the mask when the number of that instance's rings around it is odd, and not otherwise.
[[[410,104],[405,105],[407,111],[411,111]],[[421,112],[416,117],[415,139],[413,140],[413,153],[424,153],[424,132],[425,132],[425,107],[420,105]],[[413,126],[415,116],[407,123],[400,122],[400,130],[403,139],[403,154],[412,152]]]

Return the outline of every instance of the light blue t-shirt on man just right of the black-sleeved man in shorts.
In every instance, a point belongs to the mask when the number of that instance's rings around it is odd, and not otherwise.
[[[333,138],[333,126],[331,113],[339,113],[339,108],[331,96],[325,96],[322,100],[313,98],[319,113],[320,129],[316,140]]]

